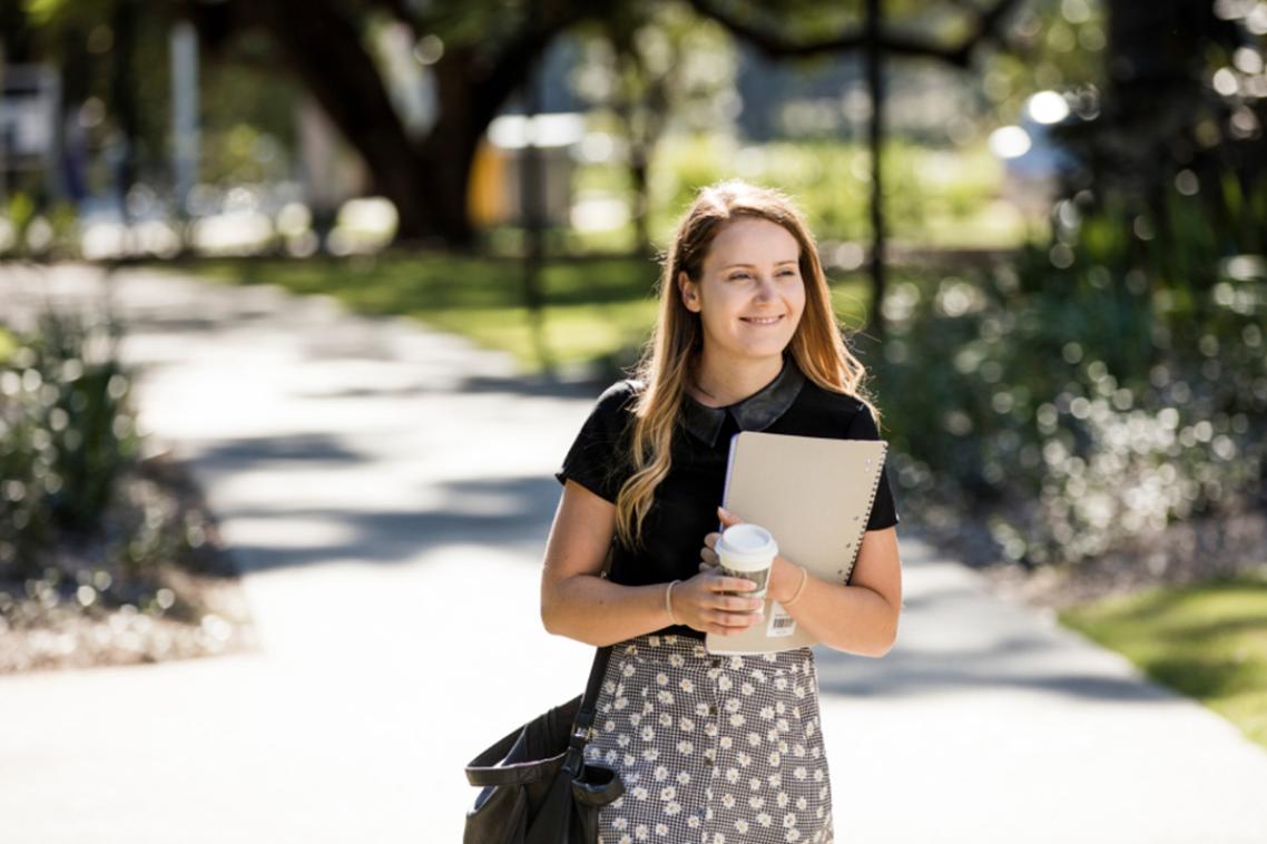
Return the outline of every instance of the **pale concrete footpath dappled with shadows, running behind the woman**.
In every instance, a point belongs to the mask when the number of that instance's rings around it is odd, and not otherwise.
[[[595,390],[328,299],[0,266],[5,314],[105,289],[262,649],[0,678],[0,841],[459,841],[464,763],[584,681],[537,575]],[[902,558],[895,650],[820,653],[839,841],[1267,841],[1267,753],[910,532]]]

